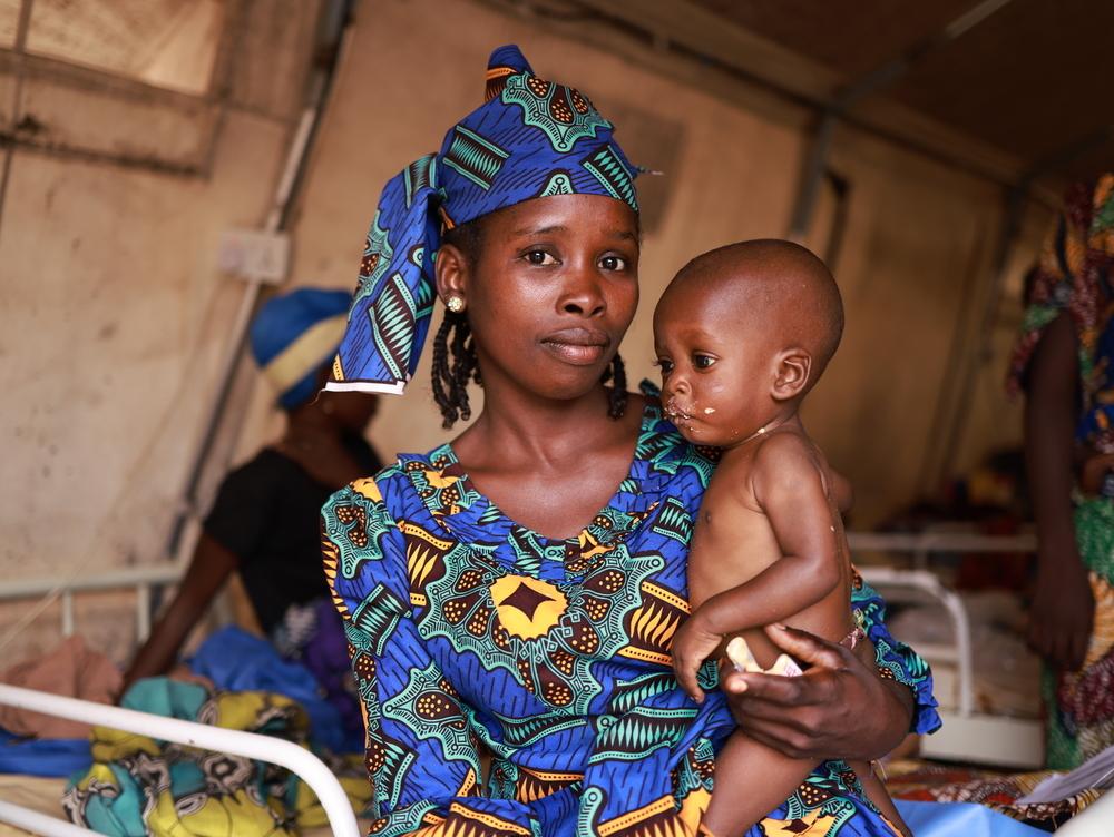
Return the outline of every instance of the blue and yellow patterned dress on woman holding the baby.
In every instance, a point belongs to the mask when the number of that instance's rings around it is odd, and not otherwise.
[[[733,721],[717,691],[697,711],[668,650],[713,467],[651,401],[627,479],[576,538],[509,520],[449,445],[329,501],[325,572],[367,716],[371,834],[695,834]],[[938,726],[927,667],[861,583],[854,604],[883,676],[916,695],[915,728]],[[890,834],[858,789],[825,762],[752,834]]]

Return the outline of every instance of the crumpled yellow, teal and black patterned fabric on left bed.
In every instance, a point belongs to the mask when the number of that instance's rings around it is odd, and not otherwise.
[[[121,705],[170,718],[284,738],[307,747],[297,702],[264,691],[213,691],[167,678],[140,680]],[[62,807],[78,825],[117,837],[293,837],[325,823],[313,791],[275,765],[94,727],[92,767],[71,779]],[[371,787],[362,759],[314,750],[356,811]]]

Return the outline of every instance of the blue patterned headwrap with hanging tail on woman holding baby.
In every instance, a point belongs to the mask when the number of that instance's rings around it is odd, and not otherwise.
[[[551,195],[604,195],[637,211],[637,170],[613,130],[583,93],[535,76],[518,47],[492,52],[483,106],[383,188],[326,388],[401,393],[409,383],[433,313],[442,227]]]

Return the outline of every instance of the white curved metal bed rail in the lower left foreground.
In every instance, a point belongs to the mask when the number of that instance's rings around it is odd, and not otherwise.
[[[297,774],[317,795],[321,807],[324,809],[325,816],[329,817],[329,825],[334,837],[361,837],[352,804],[349,802],[336,777],[321,759],[293,741],[244,732],[238,729],[211,727],[177,718],[164,718],[158,715],[137,712],[133,709],[121,709],[89,700],[63,698],[59,695],[4,683],[0,683],[0,703],[280,765]],[[0,819],[4,819],[7,808],[6,806],[6,808],[0,809]],[[56,834],[62,834],[62,831],[56,831]]]

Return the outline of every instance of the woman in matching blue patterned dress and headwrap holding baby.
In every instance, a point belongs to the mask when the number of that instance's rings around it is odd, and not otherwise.
[[[383,190],[329,384],[401,392],[440,298],[446,426],[470,417],[470,382],[485,396],[451,444],[400,455],[323,510],[367,715],[372,833],[692,835],[733,715],[820,765],[766,834],[888,833],[854,775],[825,759],[881,756],[936,713],[924,663],[869,589],[856,607],[877,670],[788,632],[775,641],[807,674],[733,673],[695,722],[668,650],[714,463],[655,393],[626,392],[635,169],[590,102],[516,47],[495,51],[487,78],[487,102],[440,154]]]

